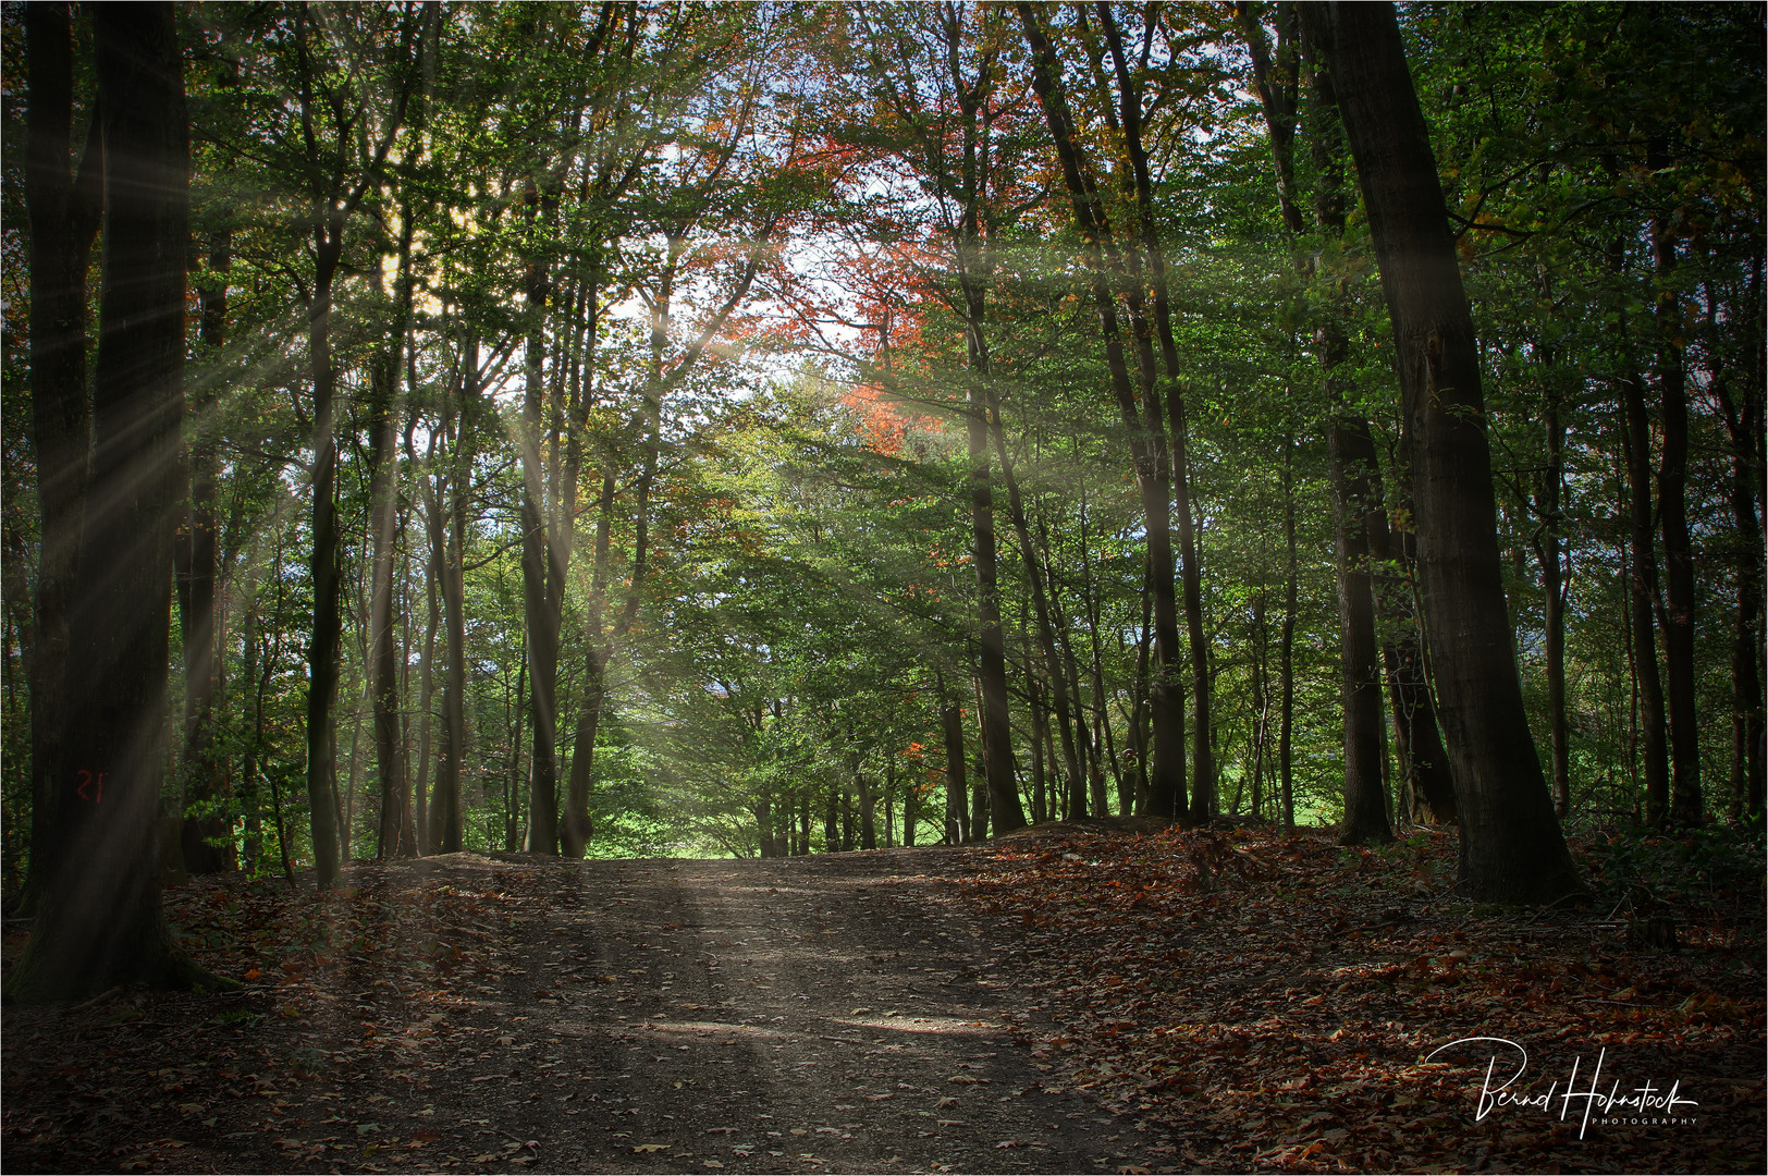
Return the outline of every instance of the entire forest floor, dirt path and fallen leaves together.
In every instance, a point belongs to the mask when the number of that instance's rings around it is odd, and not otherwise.
[[[7,1008],[0,1164],[1763,1171],[1759,847],[1577,849],[1545,913],[1457,904],[1446,836],[1132,822],[198,879],[168,914],[244,989]]]

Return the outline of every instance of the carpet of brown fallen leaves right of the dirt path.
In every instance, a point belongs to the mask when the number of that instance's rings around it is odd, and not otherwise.
[[[1045,1093],[1089,1089],[1149,1125],[1183,1125],[1220,1141],[1218,1164],[1407,1169],[1429,1164],[1420,1151],[1471,1157],[1492,1141],[1506,1164],[1535,1169],[1750,1164],[1763,1111],[1729,1091],[1717,1114],[1703,1103],[1703,1121],[1724,1123],[1717,1135],[1579,1141],[1515,1107],[1480,1121],[1483,1058],[1478,1073],[1420,1063],[1455,1038],[1496,1035],[1538,1058],[1535,1093],[1563,1082],[1574,1056],[1588,1072],[1598,1049],[1604,1082],[1681,1075],[1699,1100],[1726,1091],[1727,1075],[1759,1091],[1759,877],[1756,893],[1678,920],[1726,944],[1692,960],[1628,950],[1600,913],[1453,907],[1441,898],[1453,854],[1446,836],[1377,852],[1317,835],[1034,829],[949,881],[995,921],[1033,1008],[1070,1027],[1041,1042],[1013,1027],[1034,1058],[1063,1063]],[[1432,893],[1434,905],[1395,905]],[[1743,918],[1717,925],[1720,904]]]

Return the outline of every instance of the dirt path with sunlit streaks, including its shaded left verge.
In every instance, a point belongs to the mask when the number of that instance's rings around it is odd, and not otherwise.
[[[1156,1141],[1059,1088],[988,928],[928,879],[948,852],[357,868],[361,911],[315,923],[311,966],[285,958],[271,985],[267,960],[223,1012],[150,994],[9,1012],[5,1162],[1135,1164]],[[147,1089],[124,1103],[131,1082]]]

